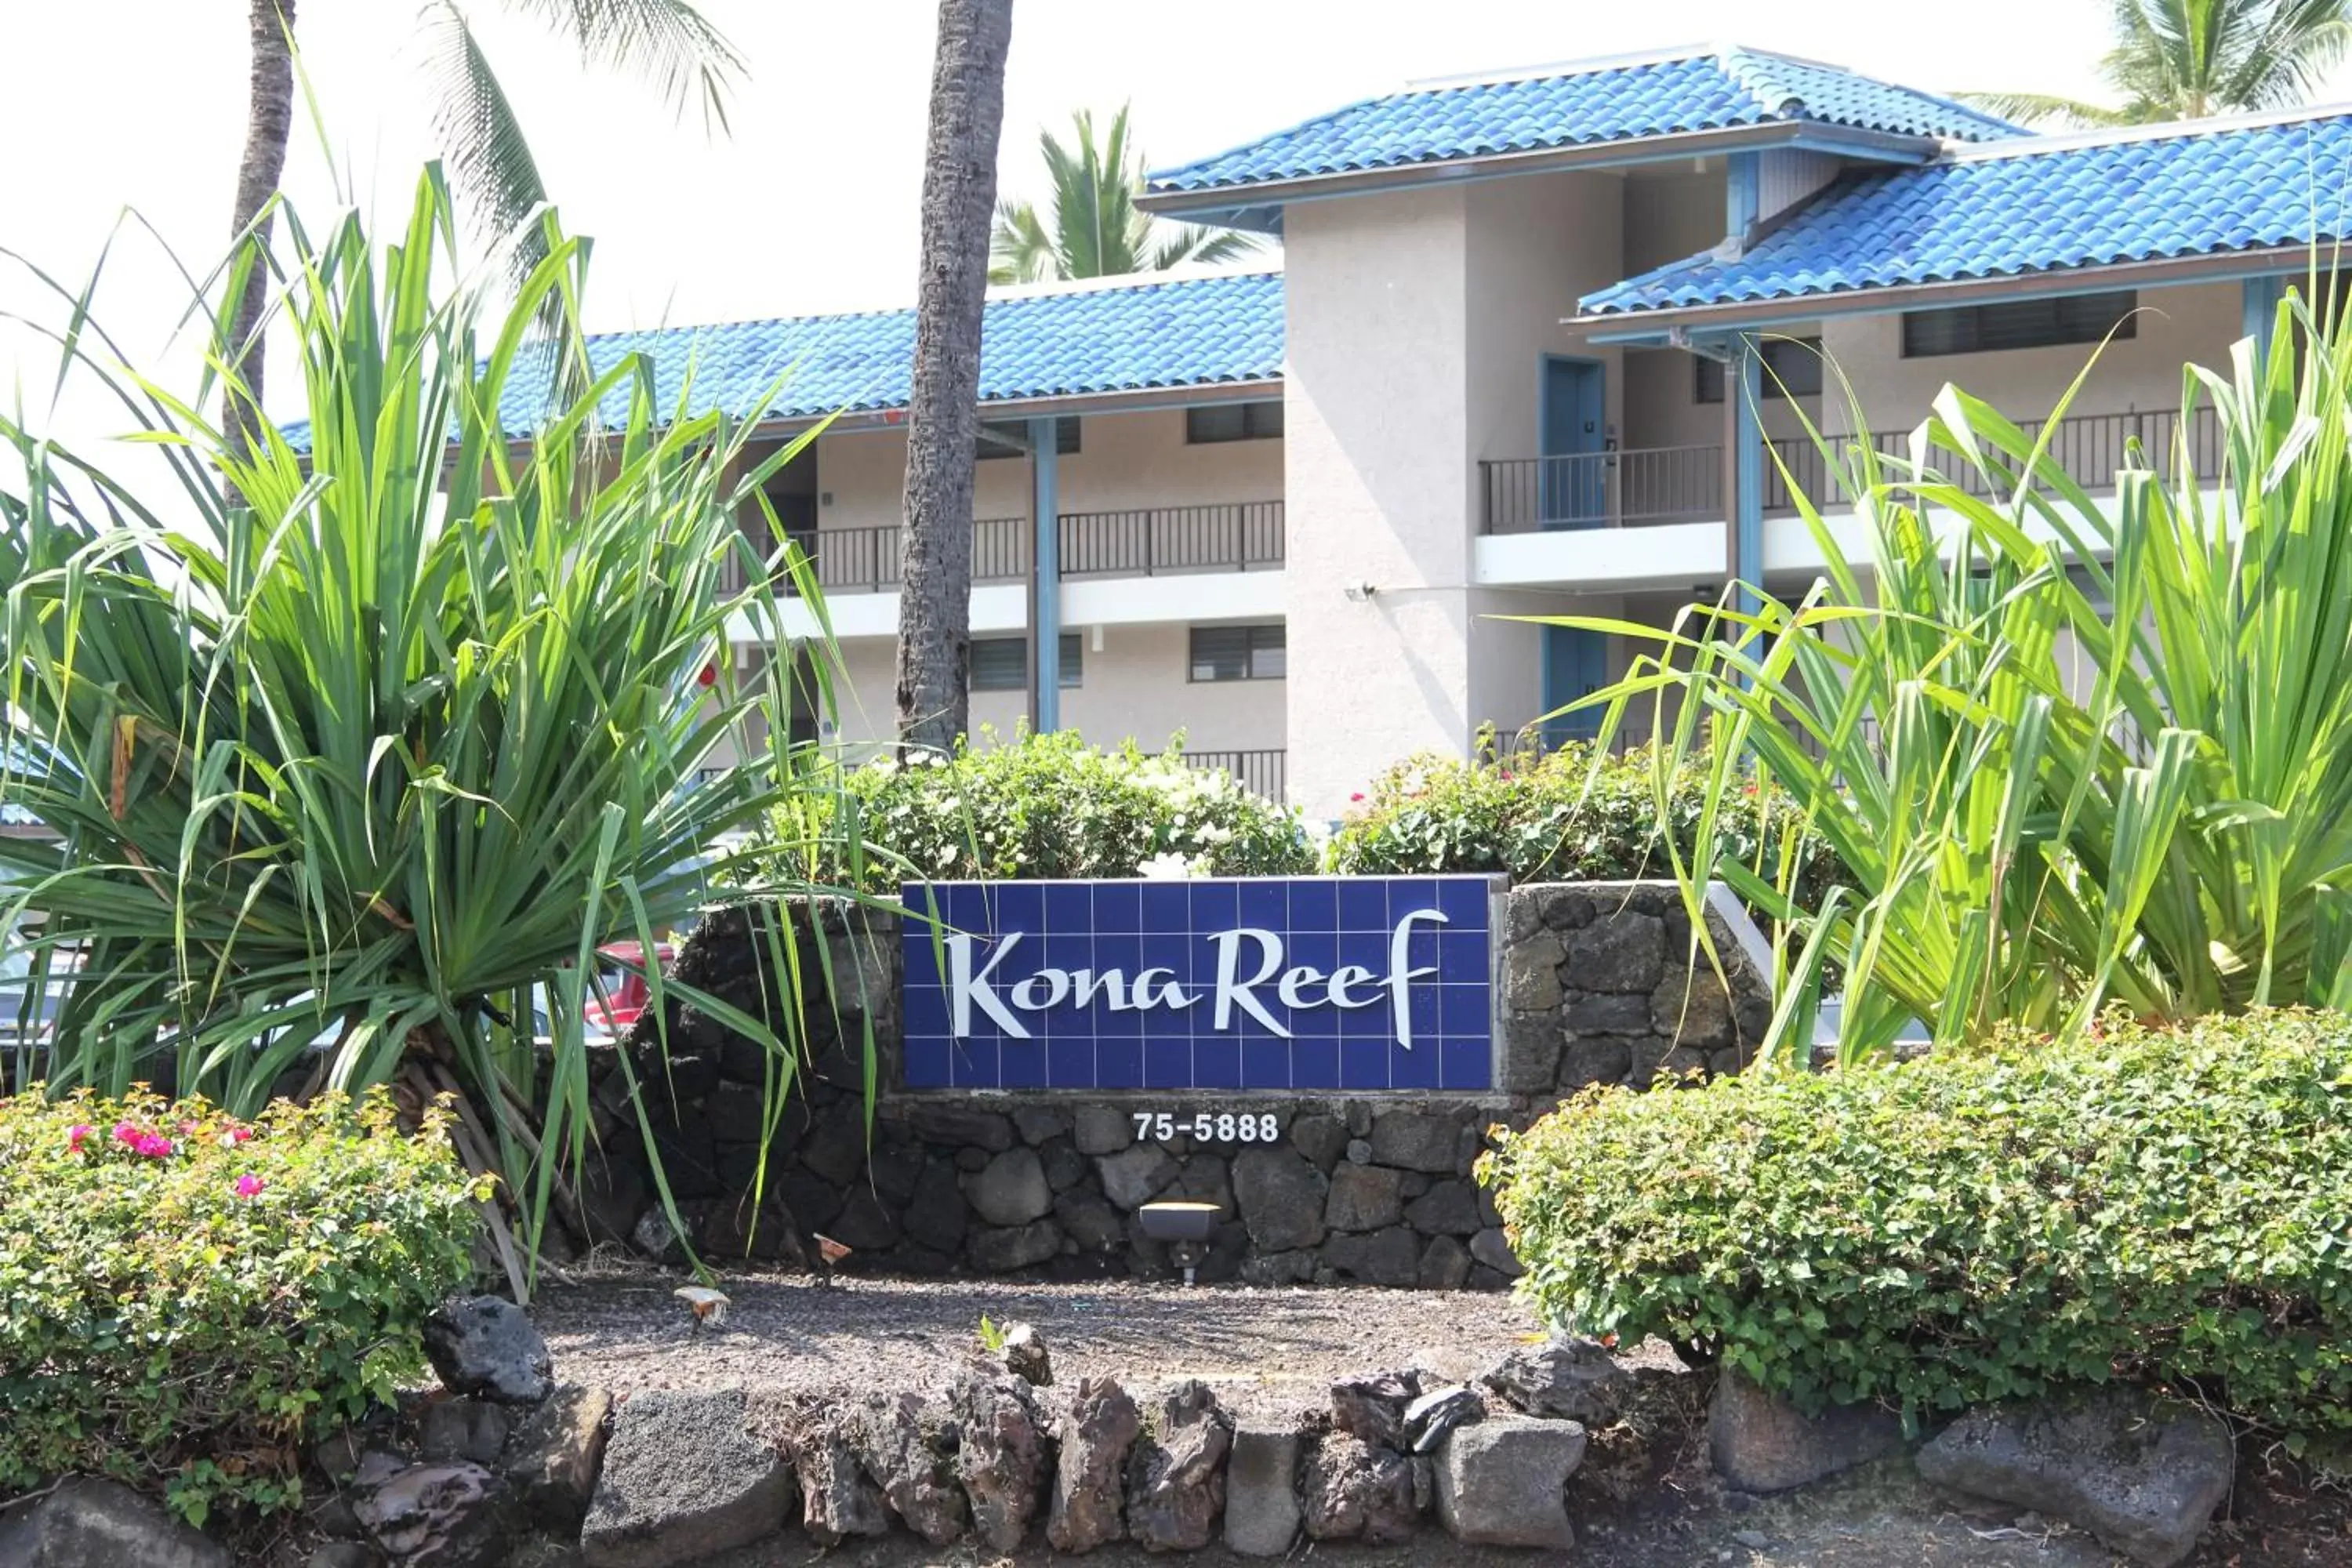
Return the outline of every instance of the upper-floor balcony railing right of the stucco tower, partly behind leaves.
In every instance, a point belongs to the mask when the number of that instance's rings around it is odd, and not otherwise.
[[[2020,421],[2018,428],[2039,437],[2046,418]],[[2124,414],[2070,414],[2049,433],[2049,454],[2060,470],[2084,489],[2114,489],[2114,475],[2133,444],[2159,463],[2185,440],[2185,451],[2199,477],[2220,470],[2220,425],[2211,407],[2199,407],[2183,433],[2180,409],[2131,409]],[[1884,458],[1910,454],[1910,433],[1875,433],[1870,444]],[[1846,498],[1846,475],[1832,482],[1823,451],[1804,437],[1766,442],[1764,512],[1795,512],[1795,491],[1816,505]],[[1842,456],[1844,442],[1832,442]],[[1788,477],[1783,477],[1783,468]],[[1990,491],[1983,475],[1959,463],[1938,473],[1955,475],[1971,496]],[[1484,534],[1538,534],[1548,529],[1621,529],[1670,522],[1719,522],[1724,505],[1722,447],[1635,447],[1628,451],[1588,451],[1564,458],[1505,458],[1479,463],[1484,498]]]

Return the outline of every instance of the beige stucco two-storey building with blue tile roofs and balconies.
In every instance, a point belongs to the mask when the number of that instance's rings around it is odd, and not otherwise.
[[[2051,449],[2112,487],[2131,440],[2211,440],[2183,364],[2227,367],[2333,237],[2293,176],[2340,143],[2317,110],[2027,136],[1682,49],[1411,87],[1160,172],[1150,207],[1279,237],[1279,266],[993,296],[974,722],[1181,733],[1336,813],[1625,668],[1630,639],[1526,616],[1802,592],[1792,484],[1851,527],[1813,430],[1900,449],[1945,386],[2018,421],[2072,388]],[[779,437],[833,423],[769,489],[851,748],[891,729],[903,317],[696,341],[816,369]]]

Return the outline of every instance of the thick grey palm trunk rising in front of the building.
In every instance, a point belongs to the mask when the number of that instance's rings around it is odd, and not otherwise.
[[[938,0],[901,529],[898,741],[906,745],[948,748],[969,729],[981,303],[1011,33],[1014,0]]]

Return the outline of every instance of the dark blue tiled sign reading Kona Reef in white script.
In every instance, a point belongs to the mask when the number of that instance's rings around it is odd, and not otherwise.
[[[908,884],[908,1088],[1494,1088],[1486,877]]]

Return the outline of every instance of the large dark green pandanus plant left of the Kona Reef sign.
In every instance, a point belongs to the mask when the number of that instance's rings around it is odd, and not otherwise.
[[[223,268],[230,299],[249,266]],[[111,388],[176,484],[0,418],[0,799],[56,835],[0,837],[0,867],[31,994],[71,978],[28,1077],[169,1077],[238,1114],[289,1081],[452,1093],[522,1220],[522,1291],[590,1138],[597,950],[807,891],[729,846],[826,788],[788,715],[795,679],[830,703],[830,639],[807,562],[753,559],[741,527],[795,447],[755,447],[757,409],[710,411],[691,367],[656,386],[640,355],[543,336],[579,320],[586,268],[553,221],[510,294],[456,266],[437,167],[381,249],[350,216],[289,221],[273,315],[306,418],[249,444],[205,416],[223,376],[242,400],[219,334],[174,395],[59,289],[61,376]],[[731,635],[786,625],[776,576],[814,658],[741,677]],[[706,766],[727,752],[746,766]],[[800,945],[771,952],[797,994]],[[656,1018],[684,992],[769,1044],[774,1126],[797,1011],[644,980]],[[652,1150],[642,1110],[633,1135]]]

